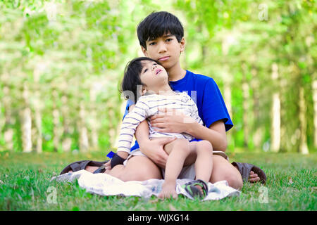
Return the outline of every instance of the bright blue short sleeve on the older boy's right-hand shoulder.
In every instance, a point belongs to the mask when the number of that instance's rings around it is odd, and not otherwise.
[[[202,115],[201,119],[206,127],[210,127],[213,122],[218,120],[223,120],[225,123],[225,131],[233,127],[223,96],[213,79],[208,79],[204,87]]]

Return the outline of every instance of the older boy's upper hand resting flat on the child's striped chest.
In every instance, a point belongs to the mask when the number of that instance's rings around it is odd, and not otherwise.
[[[188,117],[178,110],[159,108],[159,114],[151,117],[151,126],[157,127],[156,131],[166,133],[187,133],[189,134],[190,125],[195,120]]]

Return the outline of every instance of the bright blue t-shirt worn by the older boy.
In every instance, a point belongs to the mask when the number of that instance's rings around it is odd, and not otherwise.
[[[211,77],[197,75],[186,70],[185,77],[178,81],[170,82],[170,86],[172,86],[174,91],[186,91],[192,97],[197,105],[199,117],[201,117],[206,127],[210,127],[213,122],[218,120],[223,120],[225,123],[225,131],[233,127],[223,96],[218,85]],[[128,101],[125,115],[129,113],[130,105],[133,105],[132,101]],[[125,115],[123,115],[123,118]],[[131,150],[137,148],[139,148],[139,144],[135,141],[135,146]]]

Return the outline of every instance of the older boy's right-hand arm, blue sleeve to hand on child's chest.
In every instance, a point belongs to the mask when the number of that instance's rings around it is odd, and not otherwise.
[[[225,151],[228,145],[225,131],[230,129],[233,124],[223,97],[213,79],[209,79],[201,91],[204,91],[202,98],[199,99],[203,102],[201,119],[204,120],[207,127],[198,122],[190,122],[190,117],[181,115],[180,112],[173,113],[173,115],[166,113],[166,109],[162,109],[162,113],[151,117],[152,127],[161,128],[159,130],[162,132],[185,132],[197,139],[210,141],[213,150]]]

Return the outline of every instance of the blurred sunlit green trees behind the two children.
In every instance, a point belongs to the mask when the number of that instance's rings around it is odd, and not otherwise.
[[[317,149],[314,1],[0,1],[0,150],[116,148],[137,24],[169,11],[181,65],[216,80],[235,126],[228,151]]]

